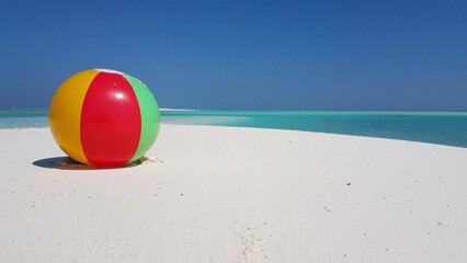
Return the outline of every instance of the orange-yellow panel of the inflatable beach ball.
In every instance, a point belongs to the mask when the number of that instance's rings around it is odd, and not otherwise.
[[[52,135],[58,146],[69,157],[81,163],[90,164],[81,146],[81,108],[86,93],[99,73],[86,70],[67,79],[52,99],[48,122]]]

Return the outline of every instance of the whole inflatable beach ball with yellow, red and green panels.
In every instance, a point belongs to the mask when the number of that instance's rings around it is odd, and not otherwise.
[[[73,160],[118,168],[149,150],[159,133],[160,114],[151,91],[138,79],[90,69],[58,88],[48,123],[57,145]]]

